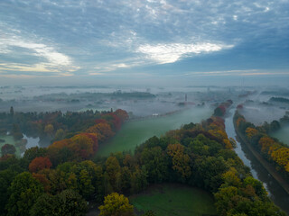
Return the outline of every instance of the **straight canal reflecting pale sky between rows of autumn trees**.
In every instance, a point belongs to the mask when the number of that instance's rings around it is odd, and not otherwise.
[[[233,123],[233,116],[236,112],[236,107],[231,108],[228,112],[228,116],[225,118],[226,132],[228,137],[236,139],[236,132]],[[252,175],[260,180],[269,194],[269,197],[276,205],[283,209],[287,215],[289,215],[289,194],[284,191],[284,189],[275,181],[275,179],[266,171],[254,157],[254,155],[248,150],[246,145],[237,142],[237,148],[235,148],[238,157],[240,157],[244,164],[248,166],[251,170]]]

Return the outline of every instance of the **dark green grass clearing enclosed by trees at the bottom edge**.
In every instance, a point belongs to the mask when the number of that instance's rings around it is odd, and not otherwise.
[[[152,210],[157,216],[217,215],[210,193],[182,184],[156,184],[129,200],[140,214]]]

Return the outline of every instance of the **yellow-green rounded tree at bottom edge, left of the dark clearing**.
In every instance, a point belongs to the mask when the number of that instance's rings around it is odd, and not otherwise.
[[[99,216],[131,216],[134,215],[134,206],[128,202],[123,194],[111,193],[105,197],[103,205],[98,207]]]

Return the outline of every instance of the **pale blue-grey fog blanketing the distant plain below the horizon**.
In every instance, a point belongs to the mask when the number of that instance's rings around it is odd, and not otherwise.
[[[135,117],[181,110],[187,105],[208,105],[232,99],[243,104],[242,114],[257,125],[279,120],[289,103],[272,102],[272,97],[289,98],[289,89],[266,86],[186,85],[182,87],[116,85],[7,85],[0,86],[0,112],[51,112],[124,109]]]

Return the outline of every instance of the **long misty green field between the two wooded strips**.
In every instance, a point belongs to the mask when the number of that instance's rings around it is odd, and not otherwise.
[[[111,152],[134,150],[137,145],[153,136],[161,136],[168,130],[180,128],[183,124],[207,119],[212,110],[207,107],[194,107],[172,115],[126,122],[117,135],[98,149],[98,156],[108,156]]]

